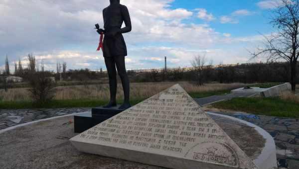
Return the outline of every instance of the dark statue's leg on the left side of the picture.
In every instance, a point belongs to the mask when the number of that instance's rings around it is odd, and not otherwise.
[[[105,64],[109,76],[110,102],[104,107],[110,108],[116,106],[117,80],[116,80],[116,69],[115,69],[114,58],[105,57]]]

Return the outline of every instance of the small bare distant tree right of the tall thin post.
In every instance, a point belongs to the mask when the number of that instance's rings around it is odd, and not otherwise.
[[[191,65],[193,67],[196,84],[202,85],[204,79],[204,64],[206,63],[205,56],[197,55],[194,57],[193,61],[191,61]]]

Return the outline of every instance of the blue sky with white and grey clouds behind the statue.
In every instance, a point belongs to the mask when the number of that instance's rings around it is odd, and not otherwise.
[[[133,30],[124,34],[127,69],[188,67],[195,55],[214,64],[246,63],[270,34],[273,0],[121,0]],[[0,0],[0,69],[5,55],[13,69],[32,53],[47,70],[56,62],[68,69],[106,69],[96,52],[109,0]]]

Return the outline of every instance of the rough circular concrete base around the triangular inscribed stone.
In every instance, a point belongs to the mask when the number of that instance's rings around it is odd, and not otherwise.
[[[267,144],[271,143],[273,139],[264,136],[263,132],[257,131],[257,126],[255,128],[253,128],[254,125],[241,126],[229,123],[232,122],[230,117],[220,117],[211,113],[209,115],[212,118],[228,121],[216,120],[217,124],[258,166],[263,164],[263,158],[259,157],[271,156],[271,146],[269,147]],[[76,135],[73,133],[73,124],[63,125],[71,119],[73,116],[56,118],[1,133],[1,169],[164,169],[77,151],[67,139]],[[236,123],[240,123],[240,121]],[[275,163],[265,160],[269,164]]]

